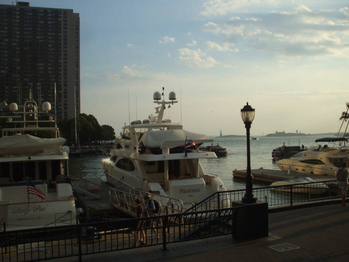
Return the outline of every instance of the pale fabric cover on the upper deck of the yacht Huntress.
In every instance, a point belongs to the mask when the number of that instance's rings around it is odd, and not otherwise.
[[[206,135],[196,134],[182,129],[147,131],[143,134],[140,143],[145,147],[174,148],[185,145],[185,139],[193,140],[196,144],[212,142]]]

